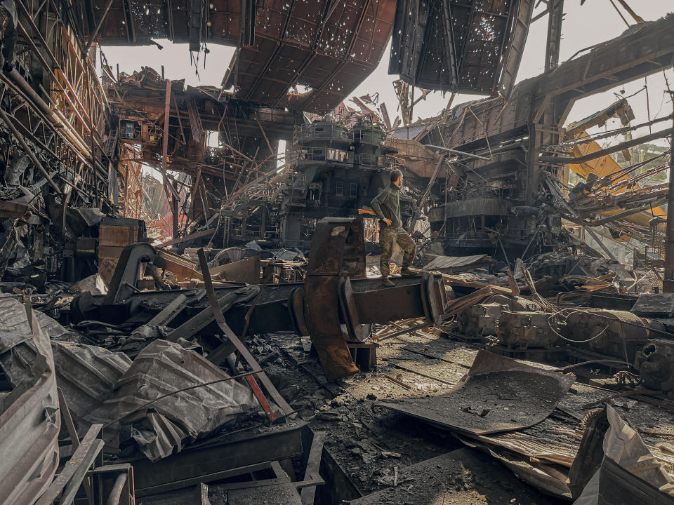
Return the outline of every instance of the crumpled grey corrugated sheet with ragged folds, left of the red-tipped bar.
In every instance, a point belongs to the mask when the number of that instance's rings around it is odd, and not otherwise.
[[[155,340],[140,351],[117,380],[110,399],[91,417],[108,422],[121,418],[109,427],[115,431],[130,424],[131,437],[140,450],[156,461],[259,405],[251,389],[236,380],[189,389],[148,407],[143,405],[177,389],[225,378],[225,372],[203,356],[173,342]],[[124,419],[126,415],[128,419]]]

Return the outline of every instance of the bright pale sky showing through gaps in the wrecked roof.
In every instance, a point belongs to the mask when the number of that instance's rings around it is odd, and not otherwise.
[[[666,13],[674,11],[673,0],[630,0],[629,3],[636,13],[647,21],[659,19]],[[544,5],[541,4],[536,12],[542,11],[543,8]],[[613,39],[627,29],[609,0],[588,0],[583,6],[580,5],[580,0],[566,0],[564,2],[564,13],[560,62],[567,60],[578,50]],[[633,23],[633,20],[624,11],[623,15],[630,23]],[[522,57],[522,65],[520,65],[520,71],[517,74],[517,81],[529,79],[543,72],[547,29],[547,17],[543,17],[531,25],[527,46]],[[164,65],[165,76],[168,79],[185,79],[185,83],[190,86],[209,85],[218,87],[234,54],[234,48],[232,47],[209,44],[210,53],[207,55],[204,55],[203,51],[199,53],[199,60],[195,69],[194,62],[190,62],[187,44],[172,44],[164,40],[158,40],[157,42],[164,46],[164,49],[160,50],[157,46],[141,46],[133,48],[104,47],[103,50],[107,60],[112,65],[113,72],[116,69],[116,64],[119,64],[121,72],[127,73],[140,70],[140,67],[145,65],[161,72],[161,65]],[[385,102],[391,119],[395,119],[399,112],[397,111],[398,102],[392,82],[397,79],[397,76],[388,74],[389,53],[389,50],[385,51],[378,67],[350,96],[380,93],[380,102]],[[204,58],[206,59],[205,68]],[[195,71],[199,72],[199,77],[197,77]],[[669,69],[666,75],[670,86],[674,88],[673,70]],[[649,114],[651,119],[671,114],[670,102],[664,95],[666,84],[663,73],[649,76],[647,82],[648,101],[647,93],[642,90],[645,81],[640,79],[628,83],[626,86],[619,86],[616,90],[580,100],[571,111],[568,121],[577,121],[607,107],[616,100],[614,92],[619,90],[624,90],[625,96],[638,92],[637,95],[629,99],[636,116],[635,124],[647,121]],[[419,92],[417,91],[416,97],[418,96]],[[474,95],[458,95],[455,97],[453,105],[478,98],[480,97]],[[425,101],[419,102],[414,107],[414,119],[435,116],[447,105],[448,100],[449,93],[445,97],[442,96],[442,93],[429,95]],[[352,105],[352,103],[348,103]],[[609,124],[609,128],[615,128],[616,121],[614,120],[613,124]],[[637,135],[643,134],[643,131],[637,133]]]

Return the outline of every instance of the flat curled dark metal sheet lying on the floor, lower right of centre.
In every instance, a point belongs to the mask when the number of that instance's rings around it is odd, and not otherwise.
[[[575,379],[480,350],[462,380],[442,396],[377,405],[459,433],[486,435],[543,421]]]

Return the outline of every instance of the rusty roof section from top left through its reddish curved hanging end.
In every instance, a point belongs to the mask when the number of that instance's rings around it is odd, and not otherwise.
[[[396,0],[93,0],[86,36],[105,45],[152,39],[237,46],[223,83],[236,97],[275,107],[328,112],[374,70]],[[243,8],[243,21],[242,21]],[[251,32],[251,13],[254,28]],[[199,14],[200,13],[200,14]],[[306,93],[289,93],[296,85]]]

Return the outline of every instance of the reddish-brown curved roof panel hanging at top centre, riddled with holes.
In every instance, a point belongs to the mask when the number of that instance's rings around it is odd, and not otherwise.
[[[255,43],[237,50],[225,86],[237,97],[308,112],[327,112],[378,64],[395,0],[258,2]],[[307,93],[290,88],[307,86]]]

